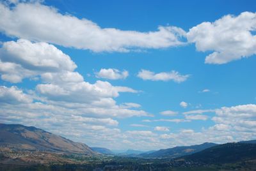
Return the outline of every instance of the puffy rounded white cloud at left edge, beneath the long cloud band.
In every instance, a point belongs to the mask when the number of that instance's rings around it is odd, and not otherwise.
[[[48,43],[20,39],[4,42],[0,48],[1,78],[9,82],[21,82],[23,78],[47,72],[70,72],[76,67],[69,56]]]

